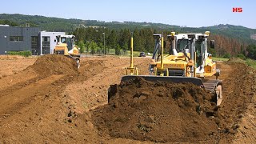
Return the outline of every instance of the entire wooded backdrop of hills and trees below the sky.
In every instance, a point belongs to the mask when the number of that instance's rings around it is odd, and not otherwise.
[[[204,33],[210,31],[210,39],[215,40],[215,49],[210,53],[216,56],[235,56],[247,54],[246,47],[256,44],[256,29],[244,26],[218,25],[206,27],[173,26],[151,22],[103,22],[97,20],[49,18],[38,15],[0,14],[0,24],[10,26],[40,27],[47,31],[65,31],[76,35],[80,43],[89,47],[102,49],[102,33],[106,36],[106,48],[128,50],[130,47],[130,33],[134,33],[134,50],[152,52],[154,48],[153,34],[164,33],[165,38],[171,31],[177,33]],[[255,50],[256,51],[256,50]],[[255,52],[256,54],[256,52]]]

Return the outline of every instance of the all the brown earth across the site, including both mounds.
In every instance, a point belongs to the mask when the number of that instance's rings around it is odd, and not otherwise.
[[[120,84],[129,58],[0,60],[0,143],[256,143],[256,71],[217,62],[220,106],[190,83]],[[149,58],[134,58],[148,74]],[[110,88],[110,85],[111,88]],[[108,103],[108,89],[111,89]]]

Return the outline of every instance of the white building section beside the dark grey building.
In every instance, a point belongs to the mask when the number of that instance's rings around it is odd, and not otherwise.
[[[65,32],[39,32],[40,54],[53,54],[57,44],[56,36],[65,35]]]

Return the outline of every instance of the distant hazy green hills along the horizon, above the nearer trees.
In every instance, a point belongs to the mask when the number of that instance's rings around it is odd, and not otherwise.
[[[256,43],[256,30],[243,26],[233,25],[218,25],[204,26],[199,28],[173,26],[162,23],[151,22],[104,22],[97,20],[81,20],[81,19],[65,19],[65,18],[50,18],[38,15],[23,15],[23,14],[0,14],[0,24],[4,24],[5,20],[12,22],[14,26],[25,26],[30,23],[30,26],[38,26],[42,30],[48,31],[66,31],[73,32],[78,27],[102,26],[113,30],[135,28],[150,28],[155,30],[174,30],[177,32],[202,32],[210,30],[211,34],[218,34],[228,38],[237,38],[241,42]],[[16,25],[15,25],[16,24]],[[185,25],[185,24],[184,24]]]

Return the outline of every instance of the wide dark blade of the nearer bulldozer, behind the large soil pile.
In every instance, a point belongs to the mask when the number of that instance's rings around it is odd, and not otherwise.
[[[174,83],[190,82],[190,83],[193,83],[194,85],[203,87],[202,79],[194,78],[194,77],[182,77],[182,76],[126,75],[122,77],[121,82],[127,82],[138,77],[144,78],[146,81],[150,81],[150,82],[158,82],[158,81],[174,82]]]

